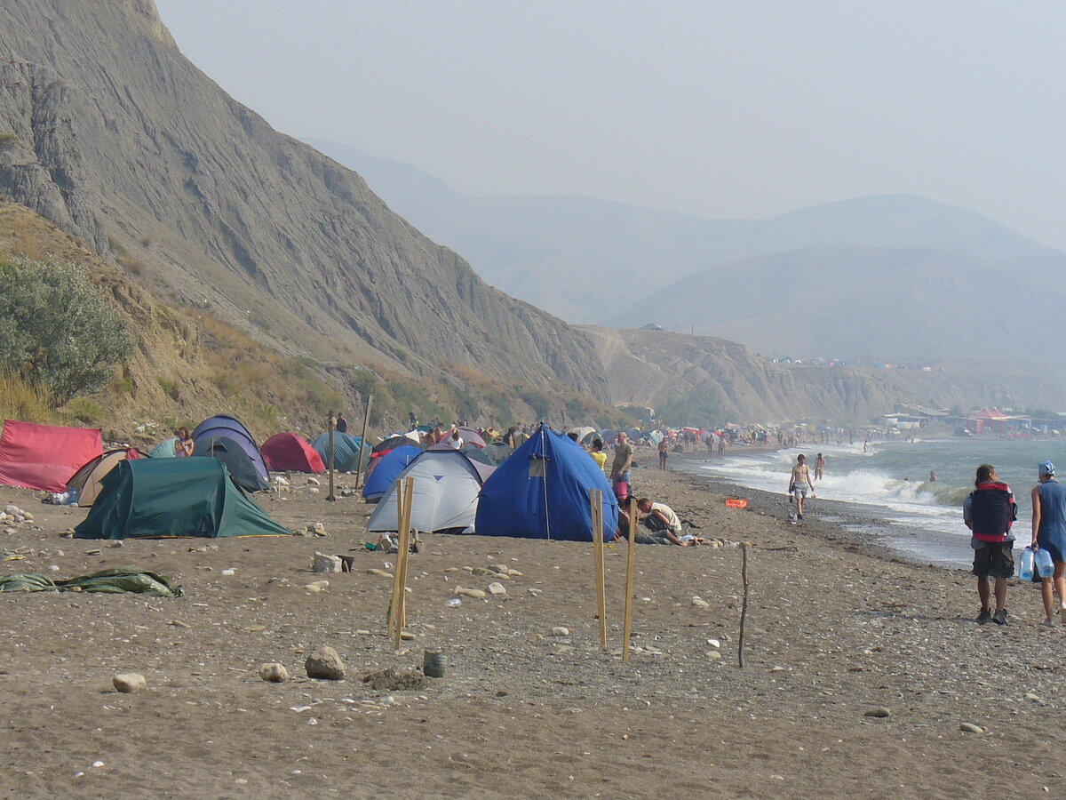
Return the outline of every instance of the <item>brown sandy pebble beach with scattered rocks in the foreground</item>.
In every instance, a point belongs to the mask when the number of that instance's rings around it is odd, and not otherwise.
[[[0,489],[0,506],[35,516],[3,534],[5,554],[25,557],[4,561],[3,574],[131,564],[184,590],[177,599],[0,595],[0,788],[360,798],[1066,791],[1057,765],[1066,631],[1038,624],[1035,587],[1011,587],[1008,625],[981,626],[964,571],[866,546],[820,523],[817,505],[802,526],[787,523],[780,497],[753,493],[748,509],[725,508],[698,478],[648,468],[649,450],[637,458],[636,492],[722,544],[637,547],[629,663],[619,656],[623,544],[605,559],[603,651],[589,545],[430,535],[409,567],[415,638],[395,652],[385,637],[390,581],[367,572],[389,570],[395,556],[362,547],[370,507],[327,502],[324,491],[302,487],[305,477],[260,502],[293,529],[322,522],[326,538],[114,547],[61,537],[84,509]],[[752,545],[743,669],[741,542]],[[353,555],[353,572],[312,574],[316,550]],[[503,581],[505,595],[446,605],[456,586],[490,580],[464,567],[496,564],[521,573]],[[305,588],[322,578],[324,591]],[[553,635],[558,627],[569,635]],[[338,651],[344,681],[305,676],[318,644]],[[394,690],[360,679],[417,671],[427,647],[448,655],[443,678]],[[266,661],[293,678],[260,681]],[[146,688],[116,692],[112,677],[125,672],[142,673]],[[888,716],[866,716],[877,708]]]

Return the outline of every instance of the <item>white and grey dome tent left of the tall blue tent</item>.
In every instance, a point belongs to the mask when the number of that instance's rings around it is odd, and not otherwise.
[[[415,479],[410,524],[415,530],[434,531],[473,527],[478,493],[496,469],[471,461],[451,447],[432,447],[420,453],[400,474],[400,480]],[[367,530],[397,530],[395,483],[385,493],[367,524]]]

